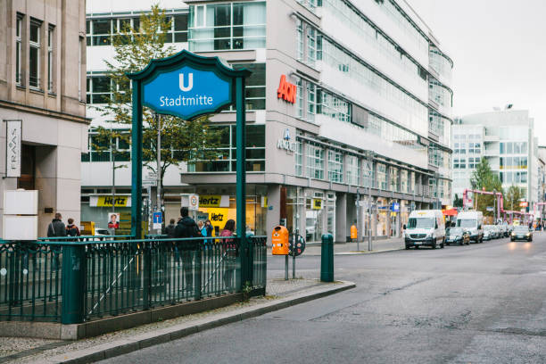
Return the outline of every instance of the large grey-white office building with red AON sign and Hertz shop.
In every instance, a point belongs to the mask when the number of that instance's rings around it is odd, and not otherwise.
[[[140,3],[128,11],[87,2],[88,103],[108,96],[102,62],[112,56],[108,39],[116,24],[135,21],[149,6]],[[282,220],[308,240],[329,232],[345,241],[355,222],[360,235],[368,231],[370,208],[372,234],[398,236],[411,209],[451,202],[453,63],[404,1],[180,4],[160,3],[172,16],[170,40],[177,49],[252,71],[246,87],[248,230],[269,235]],[[178,217],[182,193],[200,195],[199,216],[213,225],[235,217],[235,118],[230,110],[211,118],[225,130],[219,159],[168,171],[167,219]],[[102,122],[97,117],[94,125]],[[84,156],[87,219],[105,221],[109,208],[100,203],[112,184],[112,163],[104,155]],[[128,194],[130,169],[117,170],[116,180],[120,194]]]

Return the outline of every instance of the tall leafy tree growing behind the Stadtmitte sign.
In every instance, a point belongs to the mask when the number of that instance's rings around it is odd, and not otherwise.
[[[132,125],[132,92],[126,73],[143,70],[153,59],[168,57],[176,53],[171,45],[165,45],[167,30],[171,21],[158,5],[152,11],[140,16],[139,27],[131,27],[129,21],[120,22],[120,31],[112,37],[113,61],[105,61],[111,78],[111,95],[107,103],[96,107],[103,116],[113,118],[107,121],[113,128],[96,128],[97,139],[122,140],[130,144]],[[120,133],[116,129],[123,128]],[[157,136],[161,133],[161,165],[157,170]],[[153,111],[143,109],[143,163],[154,173],[158,173],[163,185],[165,171],[171,165],[182,161],[215,160],[219,158],[216,150],[221,133],[211,128],[208,117],[196,120],[181,120],[173,116],[161,115],[156,118]],[[163,188],[161,188],[163,191]]]

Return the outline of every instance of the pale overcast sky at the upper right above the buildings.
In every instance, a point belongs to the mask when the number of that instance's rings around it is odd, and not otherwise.
[[[453,116],[513,103],[546,145],[545,0],[406,0],[453,67]]]

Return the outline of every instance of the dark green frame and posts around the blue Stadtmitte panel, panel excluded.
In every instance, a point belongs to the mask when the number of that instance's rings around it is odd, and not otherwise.
[[[143,108],[144,88],[150,86],[153,80],[161,73],[172,72],[182,69],[186,65],[196,70],[213,72],[220,79],[228,79],[230,92],[228,99],[215,108],[202,108],[183,119],[193,120],[194,118],[219,112],[230,104],[236,105],[236,234],[241,242],[241,282],[252,282],[252,254],[250,246],[246,241],[246,111],[244,102],[244,80],[251,74],[249,70],[234,70],[222,62],[219,57],[204,57],[193,54],[186,50],[178,52],[170,57],[152,60],[144,70],[127,73],[128,79],[132,81],[132,128],[131,128],[131,235],[139,239],[143,236],[142,229],[142,166],[143,166]],[[188,77],[189,79],[189,77]],[[211,86],[213,87],[213,85]],[[181,113],[157,110],[153,105],[151,109],[155,112],[180,117]]]

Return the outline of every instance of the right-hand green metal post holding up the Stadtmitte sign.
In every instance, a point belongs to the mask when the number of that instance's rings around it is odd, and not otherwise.
[[[246,112],[244,110],[244,78],[236,78],[236,153],[237,153],[237,186],[236,186],[236,229],[241,238],[241,286],[246,281],[252,282],[252,261],[250,249],[246,243]]]

